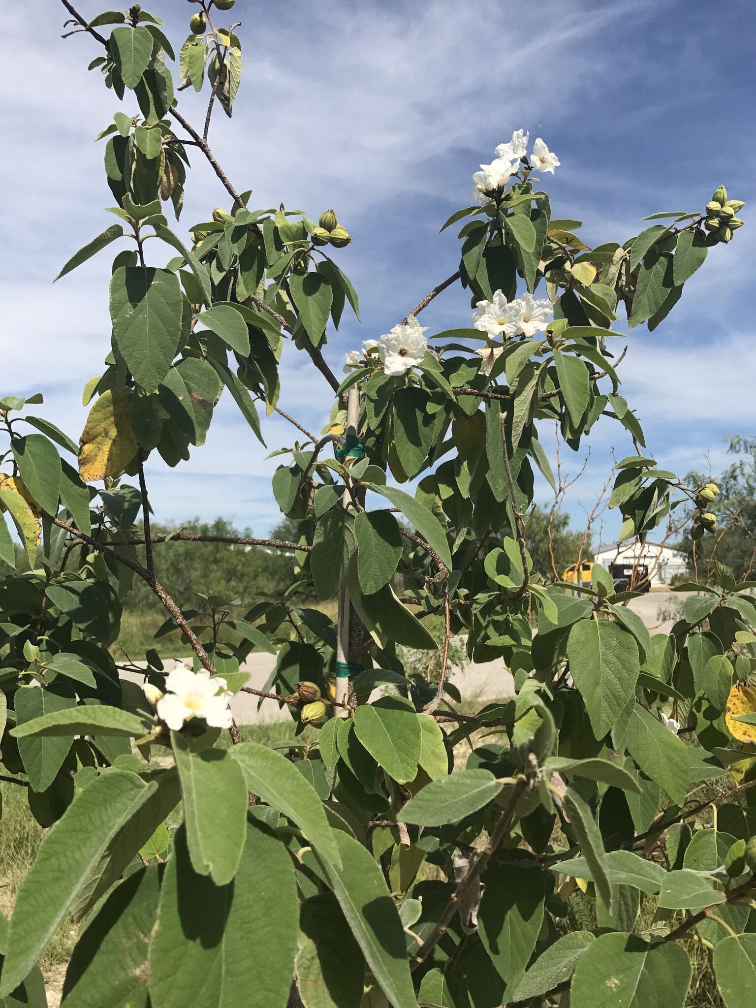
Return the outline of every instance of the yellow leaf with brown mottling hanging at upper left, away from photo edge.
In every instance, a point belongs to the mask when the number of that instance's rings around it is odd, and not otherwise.
[[[136,455],[131,397],[129,388],[108,390],[90,410],[79,442],[79,475],[85,483],[120,476]]]

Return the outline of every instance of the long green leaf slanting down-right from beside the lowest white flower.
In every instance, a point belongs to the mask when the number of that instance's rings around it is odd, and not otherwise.
[[[323,857],[341,868],[323,802],[294,764],[257,742],[242,742],[230,753],[244,771],[247,788],[295,823]]]

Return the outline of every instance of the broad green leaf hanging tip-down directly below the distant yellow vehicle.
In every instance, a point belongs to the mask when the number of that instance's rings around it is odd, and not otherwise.
[[[603,739],[635,692],[638,645],[631,634],[608,620],[581,620],[570,631],[566,653],[594,735]]]

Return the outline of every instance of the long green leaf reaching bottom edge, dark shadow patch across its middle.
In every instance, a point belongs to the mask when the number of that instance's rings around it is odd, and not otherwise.
[[[372,855],[353,837],[342,830],[336,830],[334,836],[341,854],[341,871],[320,857],[319,861],[350,930],[393,1008],[415,1008],[404,928],[383,873]]]

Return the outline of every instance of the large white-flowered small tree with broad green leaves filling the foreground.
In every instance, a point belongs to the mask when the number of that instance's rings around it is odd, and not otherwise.
[[[650,636],[601,566],[546,586],[523,531],[534,468],[552,481],[542,420],[573,449],[598,422],[627,431],[611,500],[623,539],[679,504],[695,537],[714,531],[718,488],[683,485],[646,449],[614,327],[655,329],[742,204],[720,187],[702,211],[588,248],[541,187],[557,158],[517,131],[445,225],[464,221],[459,270],[348,354],[340,381],[322,350],[359,312],[349,233],[333,211],[316,224],[251,209],[208,145],[240,82],[238,25],[219,23],[233,0],[201,0],[177,58],[138,5],[89,22],[64,6],[125,111],[101,134],[117,221],[60,275],[119,248],[81,444],[28,412],[39,396],[0,400],[0,553],[12,568],[15,527],[28,557],[0,586],[3,780],[49,828],[2,921],[0,996],[45,1003],[35,964],[73,917],[68,1008],[681,1008],[692,937],[728,1008],[744,1005],[754,585],[717,565],[718,585],[682,586],[682,618]],[[179,111],[186,87],[210,92],[204,132]],[[168,220],[190,154],[231,203],[180,238]],[[418,316],[457,283],[472,319],[428,338]],[[181,611],[153,552],[203,536],[151,535],[144,462],[187,459],[223,392],[262,439],[286,340],[333,397],[331,420],[320,436],[287,417],[296,440],[273,493],[296,541],[237,541],[295,550],[291,588],[244,619],[218,598],[210,618]],[[109,653],[135,578],[165,607],[160,632],[194,653],[166,674],[148,650],[143,687]],[[297,606],[305,583],[338,597],[336,624]],[[438,647],[428,620],[444,626],[433,684],[397,650]],[[241,643],[224,643],[224,622]],[[503,658],[512,697],[456,710],[453,634],[473,661]],[[254,647],[277,653],[264,690],[240,670]],[[240,741],[229,698],[245,689],[288,710],[286,754]]]

